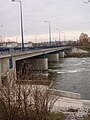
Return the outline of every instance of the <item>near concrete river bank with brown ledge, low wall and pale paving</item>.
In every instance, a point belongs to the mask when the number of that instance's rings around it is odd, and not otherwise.
[[[52,88],[53,82],[50,81],[31,81],[31,80],[18,80],[17,84],[21,86],[32,86],[32,88],[43,89],[42,92],[47,91],[50,96],[57,98],[54,103],[52,112],[66,112],[70,109],[87,109],[90,111],[90,100],[81,99],[79,93],[57,90]],[[34,89],[33,89],[34,90]]]

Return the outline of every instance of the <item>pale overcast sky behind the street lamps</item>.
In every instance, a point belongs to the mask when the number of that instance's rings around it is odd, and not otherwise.
[[[78,38],[81,32],[90,35],[90,3],[83,0],[22,0],[24,31],[27,36],[39,36],[44,40],[48,37],[48,23],[50,21],[52,39],[61,37],[66,39]],[[20,36],[19,3],[12,0],[0,0],[0,35]],[[63,34],[64,33],[64,34]],[[63,38],[62,38],[63,39]]]

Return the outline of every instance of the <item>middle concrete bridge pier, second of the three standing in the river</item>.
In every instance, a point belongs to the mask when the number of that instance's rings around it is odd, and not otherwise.
[[[59,61],[58,51],[48,54],[48,62],[58,62],[58,61]]]

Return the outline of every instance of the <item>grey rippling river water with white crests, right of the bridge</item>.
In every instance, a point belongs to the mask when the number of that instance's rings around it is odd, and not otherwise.
[[[83,99],[90,99],[90,58],[63,58],[50,63],[49,79],[56,89],[79,92]]]

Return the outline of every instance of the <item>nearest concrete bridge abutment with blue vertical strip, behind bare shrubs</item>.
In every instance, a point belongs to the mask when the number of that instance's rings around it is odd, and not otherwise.
[[[15,76],[14,68],[16,68],[16,65],[12,57],[3,57],[0,59],[0,85],[6,86],[9,80],[14,79],[12,76],[12,74]]]

